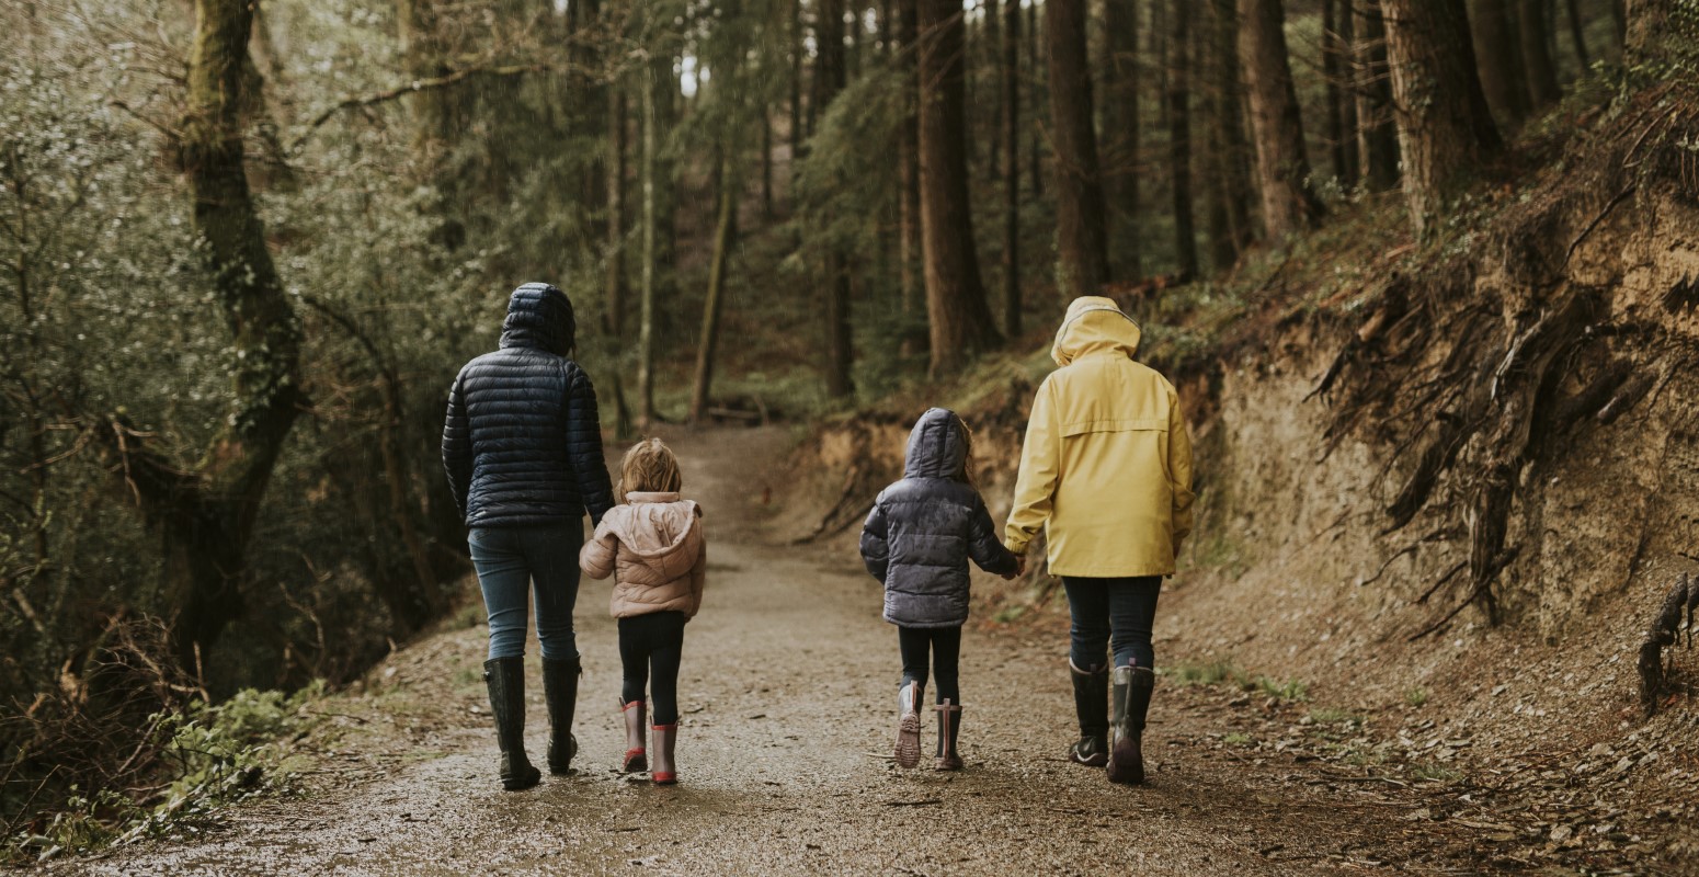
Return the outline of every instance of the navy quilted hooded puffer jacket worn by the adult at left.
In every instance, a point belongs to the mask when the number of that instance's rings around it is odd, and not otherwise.
[[[590,377],[567,359],[573,303],[549,284],[508,299],[501,348],[449,391],[442,464],[467,527],[567,523],[613,506]]]

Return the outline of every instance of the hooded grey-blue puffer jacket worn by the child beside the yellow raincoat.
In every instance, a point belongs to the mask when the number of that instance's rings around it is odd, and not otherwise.
[[[962,481],[967,432],[931,408],[909,433],[902,481],[880,491],[861,527],[861,559],[885,583],[885,620],[904,627],[967,624],[972,559],[987,573],[1014,571],[985,501]]]

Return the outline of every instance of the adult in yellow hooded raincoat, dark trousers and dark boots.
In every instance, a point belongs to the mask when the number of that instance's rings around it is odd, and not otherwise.
[[[1067,588],[1081,733],[1069,756],[1126,784],[1143,782],[1150,629],[1193,501],[1186,418],[1174,386],[1135,362],[1138,338],[1138,323],[1111,299],[1069,306],[1050,350],[1060,369],[1033,399],[1004,532],[1024,569],[1043,529],[1050,573]]]

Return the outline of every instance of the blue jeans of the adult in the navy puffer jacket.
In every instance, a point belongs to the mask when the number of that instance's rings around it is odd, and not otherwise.
[[[578,549],[584,542],[584,523],[476,527],[466,542],[489,614],[489,658],[525,656],[525,607],[533,593],[542,656],[552,661],[578,658],[573,605],[578,603]]]

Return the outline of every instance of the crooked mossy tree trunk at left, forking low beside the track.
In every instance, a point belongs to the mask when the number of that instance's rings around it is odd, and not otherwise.
[[[187,110],[178,126],[192,221],[206,241],[206,269],[236,352],[233,408],[202,462],[187,472],[124,427],[112,437],[143,518],[161,535],[172,646],[190,671],[199,671],[204,653],[241,612],[238,581],[248,540],[299,399],[301,326],[267,250],[243,163],[243,109],[255,83],[251,22],[246,0],[195,2]]]

